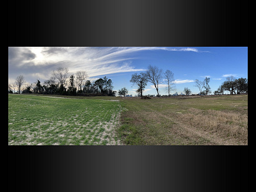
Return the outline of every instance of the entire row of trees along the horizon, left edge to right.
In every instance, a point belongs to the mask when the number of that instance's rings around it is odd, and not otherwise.
[[[38,93],[38,94],[56,94],[56,95],[104,95],[104,96],[115,96],[122,95],[125,97],[127,95],[127,88],[122,88],[118,92],[113,90],[113,82],[106,76],[104,78],[99,78],[94,83],[90,80],[86,80],[88,75],[85,71],[78,71],[76,74],[72,74],[68,78],[68,68],[59,67],[57,70],[52,72],[52,76],[45,80],[41,84],[38,79],[36,83],[25,85],[25,88],[21,92],[21,86],[25,84],[24,76],[18,76],[15,80],[15,84],[8,84],[8,92],[13,93],[12,89],[15,90],[15,85],[18,88],[18,93]],[[132,74],[130,83],[132,86],[136,86],[139,97],[143,97],[143,91],[150,82],[156,88],[157,97],[160,97],[159,84],[166,83],[166,92],[168,92],[168,97],[170,97],[170,92],[175,90],[174,86],[174,74],[170,70],[163,72],[161,68],[149,65],[145,72],[140,74]],[[195,85],[199,89],[198,95],[209,95],[211,93],[211,88],[209,86],[210,78],[205,77],[204,81],[199,81],[195,79]],[[234,76],[226,78],[226,81],[221,84],[221,86],[214,92],[216,94],[223,94],[225,91],[230,92],[230,94],[241,94],[248,93],[248,79],[239,78],[236,79]],[[186,95],[191,94],[189,88],[184,88]]]

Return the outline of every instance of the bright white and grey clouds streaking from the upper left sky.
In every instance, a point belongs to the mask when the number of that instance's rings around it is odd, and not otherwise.
[[[85,70],[92,78],[120,72],[140,72],[145,68],[132,65],[134,52],[191,51],[190,47],[8,47],[9,79],[23,74],[28,82],[35,77],[45,80],[58,67],[69,68],[70,74]],[[40,74],[40,75],[39,75]],[[177,84],[189,80],[176,81]]]

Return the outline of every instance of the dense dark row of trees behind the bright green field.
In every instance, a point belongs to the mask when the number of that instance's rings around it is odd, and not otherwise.
[[[15,87],[18,93],[38,93],[54,95],[104,95],[115,96],[113,91],[113,82],[106,76],[99,78],[94,83],[86,80],[88,75],[85,71],[78,71],[68,78],[68,68],[59,67],[52,72],[52,76],[42,84],[38,79],[34,84],[25,84],[24,76],[20,75],[15,79],[15,84],[8,84],[8,92],[13,93]],[[25,85],[22,92],[21,86]]]

